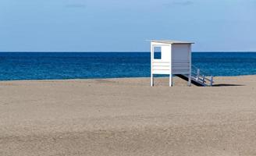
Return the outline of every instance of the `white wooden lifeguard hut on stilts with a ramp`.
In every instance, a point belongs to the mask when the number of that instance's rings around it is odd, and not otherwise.
[[[212,86],[213,77],[202,74],[200,69],[192,66],[191,46],[189,41],[151,41],[151,86],[154,86],[154,75],[169,75],[169,86],[172,87],[172,76],[187,80],[188,86]],[[157,49],[160,49],[157,51]],[[155,53],[160,52],[159,57]]]

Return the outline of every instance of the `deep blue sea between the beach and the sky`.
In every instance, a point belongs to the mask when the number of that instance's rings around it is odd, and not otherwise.
[[[256,52],[194,52],[192,60],[208,75],[256,75]],[[148,76],[149,52],[0,52],[0,80]]]

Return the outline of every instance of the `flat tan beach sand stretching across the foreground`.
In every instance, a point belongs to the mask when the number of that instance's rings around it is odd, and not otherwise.
[[[0,82],[0,155],[256,155],[256,76]]]

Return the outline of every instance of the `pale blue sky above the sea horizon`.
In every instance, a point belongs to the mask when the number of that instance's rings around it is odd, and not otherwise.
[[[1,0],[0,51],[256,51],[256,0]]]

